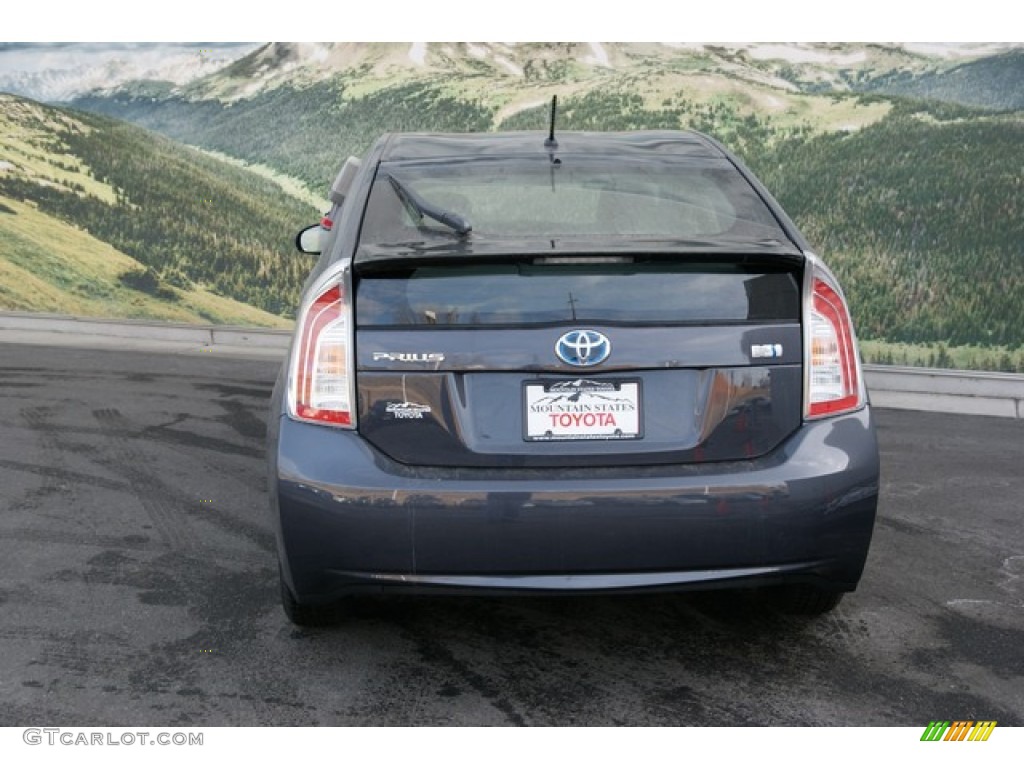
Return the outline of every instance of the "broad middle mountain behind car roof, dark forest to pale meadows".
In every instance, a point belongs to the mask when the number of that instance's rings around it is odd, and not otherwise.
[[[183,85],[73,103],[321,189],[384,130],[540,129],[552,95],[566,125],[693,127],[728,143],[751,121],[773,139],[855,131],[888,96],[940,88],[944,103],[1024,109],[1022,68],[1024,47],[994,44],[268,43]]]

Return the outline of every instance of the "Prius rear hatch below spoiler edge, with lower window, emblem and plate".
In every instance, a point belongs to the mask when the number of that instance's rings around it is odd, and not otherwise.
[[[803,257],[356,262],[356,424],[434,467],[760,457],[801,423]]]

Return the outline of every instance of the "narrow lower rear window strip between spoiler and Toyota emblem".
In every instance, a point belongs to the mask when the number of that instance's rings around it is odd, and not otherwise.
[[[790,321],[794,275],[740,264],[424,266],[364,278],[360,326]]]

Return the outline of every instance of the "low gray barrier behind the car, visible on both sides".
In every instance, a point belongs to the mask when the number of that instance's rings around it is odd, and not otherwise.
[[[0,312],[0,342],[272,358],[291,338],[287,330]],[[879,408],[1024,419],[1024,375],[896,366],[865,366],[864,375]]]

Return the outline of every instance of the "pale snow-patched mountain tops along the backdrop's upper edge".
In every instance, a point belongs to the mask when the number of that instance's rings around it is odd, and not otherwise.
[[[284,82],[345,71],[415,76],[488,73],[536,80],[575,70],[629,70],[644,60],[720,69],[783,89],[857,89],[959,71],[1020,51],[1010,43],[50,43],[0,44],[0,91],[42,101],[160,84],[174,95],[251,97]],[[234,67],[229,65],[240,58]],[[965,95],[968,95],[965,93]]]

